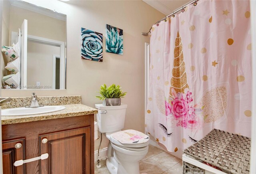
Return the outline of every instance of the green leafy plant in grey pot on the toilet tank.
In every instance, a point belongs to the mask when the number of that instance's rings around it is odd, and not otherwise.
[[[101,96],[96,96],[96,98],[102,100],[102,105],[104,106],[120,106],[121,98],[126,95],[126,92],[122,92],[119,85],[111,85],[107,87],[106,84],[101,85],[100,92]]]

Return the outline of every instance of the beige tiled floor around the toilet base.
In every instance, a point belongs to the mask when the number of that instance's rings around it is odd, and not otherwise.
[[[101,168],[96,168],[95,174],[109,174],[106,168],[106,158],[101,160]],[[148,153],[140,160],[140,174],[182,174],[182,160],[160,148],[149,145]]]

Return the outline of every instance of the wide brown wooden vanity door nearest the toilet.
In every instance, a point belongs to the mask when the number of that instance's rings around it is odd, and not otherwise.
[[[91,127],[54,132],[39,136],[39,155],[48,153],[40,161],[41,174],[89,174]]]

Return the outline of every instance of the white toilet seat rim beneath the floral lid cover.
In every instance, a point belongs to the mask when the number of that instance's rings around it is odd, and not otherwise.
[[[149,138],[146,140],[146,142],[140,143],[140,144],[123,144],[121,142],[119,142],[118,140],[116,140],[115,138],[112,137],[112,134],[106,134],[106,137],[110,140],[110,142],[112,142],[113,144],[121,147],[121,148],[125,148],[127,150],[133,150],[133,151],[141,151],[142,149],[139,148],[143,148],[148,146],[149,144]]]

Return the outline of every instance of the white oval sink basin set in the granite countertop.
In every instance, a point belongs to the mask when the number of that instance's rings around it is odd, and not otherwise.
[[[34,107],[34,108],[25,108],[18,107],[12,109],[2,109],[2,116],[18,116],[18,115],[35,115],[35,114],[44,114],[52,113],[56,111],[61,111],[65,109],[64,106],[44,106],[44,107]]]

